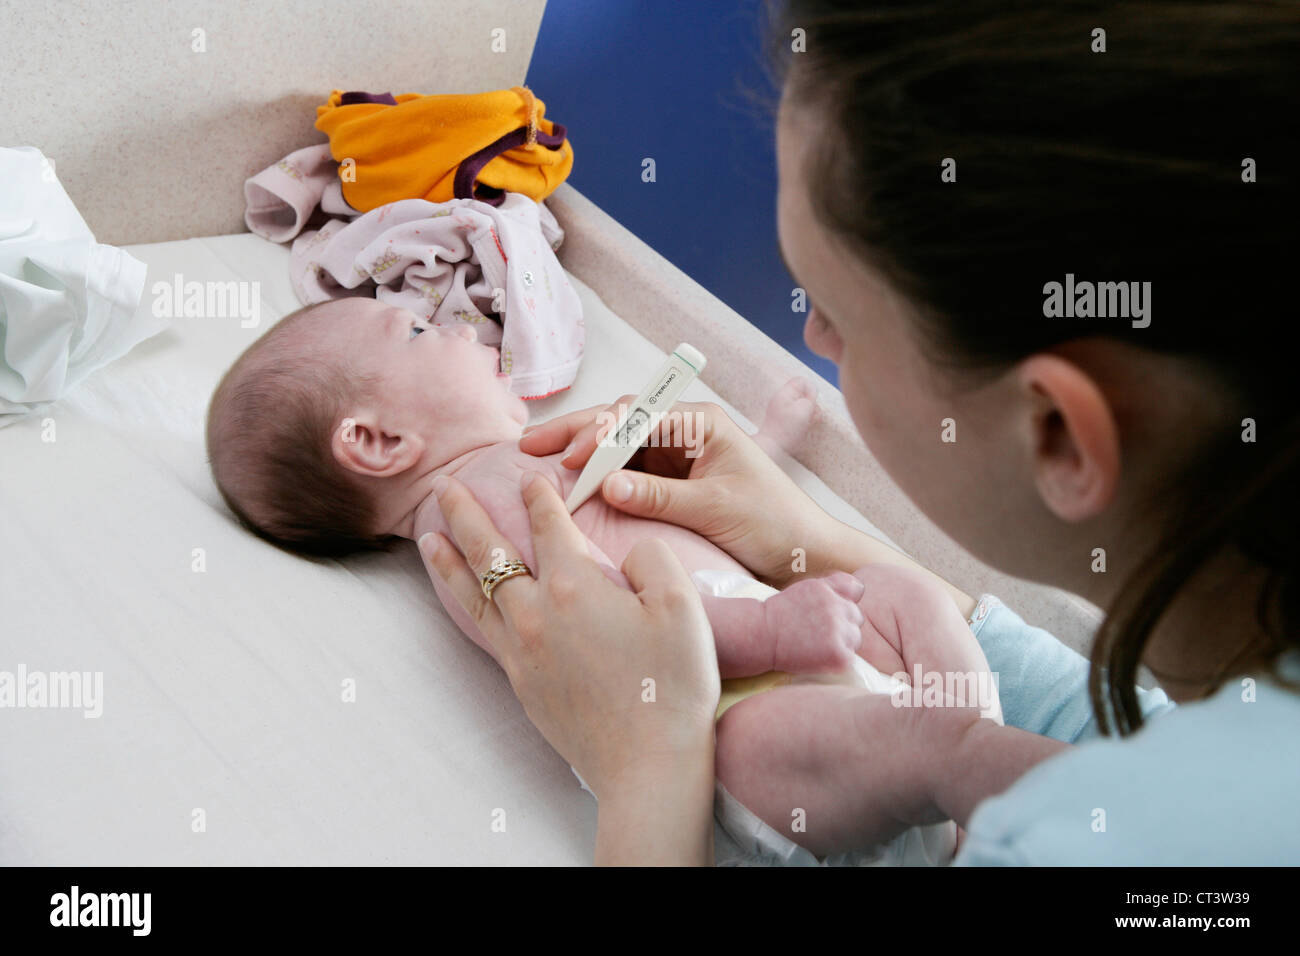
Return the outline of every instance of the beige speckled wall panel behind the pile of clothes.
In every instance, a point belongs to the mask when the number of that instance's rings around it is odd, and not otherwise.
[[[100,242],[240,232],[243,181],[324,142],[312,124],[330,90],[523,83],[545,7],[0,0],[0,146],[49,156]],[[491,48],[498,27],[504,52]]]

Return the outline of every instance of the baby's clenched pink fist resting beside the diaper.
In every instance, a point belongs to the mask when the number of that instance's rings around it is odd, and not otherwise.
[[[844,670],[862,644],[862,584],[836,571],[796,581],[763,602],[763,622],[774,648],[774,666],[788,674]]]

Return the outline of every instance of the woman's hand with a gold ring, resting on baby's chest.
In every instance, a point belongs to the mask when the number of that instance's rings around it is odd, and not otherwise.
[[[494,551],[520,555],[455,479],[438,494],[455,546],[425,535],[421,554],[491,645],[529,719],[601,801],[597,861],[707,862],[720,683],[696,585],[650,538],[623,562],[632,591],[620,587],[550,481],[529,472],[523,497],[537,567],[498,584],[493,600],[478,574]]]

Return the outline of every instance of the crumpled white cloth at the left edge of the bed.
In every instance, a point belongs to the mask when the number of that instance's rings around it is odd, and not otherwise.
[[[161,332],[144,263],[103,246],[30,146],[0,147],[0,427]]]

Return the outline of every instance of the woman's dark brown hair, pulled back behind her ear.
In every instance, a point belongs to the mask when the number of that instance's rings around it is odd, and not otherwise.
[[[1240,399],[1108,609],[1102,732],[1141,726],[1152,628],[1221,551],[1269,572],[1270,656],[1300,643],[1300,5],[788,0],[768,43],[790,105],[824,121],[803,170],[819,222],[915,306],[933,362],[997,373],[1100,336],[1195,359]],[[1067,273],[1150,282],[1150,324],[1045,317]]]

